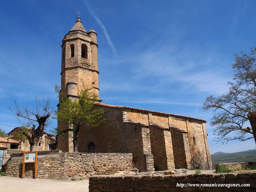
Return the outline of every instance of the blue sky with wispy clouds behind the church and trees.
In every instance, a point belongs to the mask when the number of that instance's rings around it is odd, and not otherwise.
[[[77,11],[98,34],[103,103],[202,118],[206,95],[226,93],[234,53],[255,46],[255,1],[4,1],[0,7],[0,128],[20,126],[8,107],[35,95],[58,102],[61,40]],[[3,125],[4,124],[4,125]],[[9,125],[9,126],[7,126]],[[254,140],[213,141],[211,153],[253,149]],[[12,127],[10,127],[12,126]],[[56,121],[53,121],[56,127]],[[48,130],[50,127],[48,128]]]

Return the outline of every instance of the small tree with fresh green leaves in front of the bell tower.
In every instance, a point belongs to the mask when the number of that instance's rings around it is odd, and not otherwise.
[[[58,87],[56,92],[59,92]],[[96,127],[105,121],[102,117],[103,110],[94,108],[94,103],[98,101],[97,98],[97,95],[92,93],[91,89],[81,90],[76,99],[71,99],[60,93],[59,110],[54,111],[55,117],[52,118],[73,128],[74,152],[78,152],[77,140],[82,125],[85,125],[85,127]],[[57,133],[60,135],[59,129],[57,129]]]

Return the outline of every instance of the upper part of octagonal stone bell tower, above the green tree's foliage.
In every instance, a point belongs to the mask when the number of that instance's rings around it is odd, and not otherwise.
[[[93,29],[87,32],[78,16],[61,48],[61,91],[74,98],[83,87],[92,88],[99,98],[97,33]]]

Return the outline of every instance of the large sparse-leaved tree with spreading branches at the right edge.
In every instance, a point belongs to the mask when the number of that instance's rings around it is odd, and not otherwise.
[[[217,141],[245,141],[256,143],[256,47],[248,54],[235,54],[233,82],[229,91],[219,97],[206,97],[203,110],[212,110],[211,125],[216,126]]]

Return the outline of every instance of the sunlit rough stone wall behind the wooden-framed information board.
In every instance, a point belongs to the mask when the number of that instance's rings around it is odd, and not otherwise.
[[[5,175],[21,177],[23,154],[12,154]],[[131,171],[131,153],[62,153],[60,150],[38,151],[37,178],[61,180],[85,179],[94,174]],[[25,177],[34,176],[34,163],[26,163]]]

